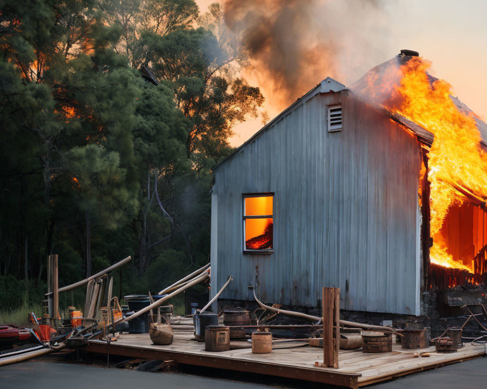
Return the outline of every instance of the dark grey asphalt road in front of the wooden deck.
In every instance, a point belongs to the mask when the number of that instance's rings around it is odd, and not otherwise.
[[[368,389],[486,389],[486,367],[487,358],[477,358],[408,375]],[[67,363],[27,361],[0,367],[0,389],[326,388],[326,386],[306,383],[288,385],[285,380],[279,383],[271,382],[268,385],[235,381],[232,380],[234,377],[231,372],[219,374],[219,377],[174,372],[148,373]]]

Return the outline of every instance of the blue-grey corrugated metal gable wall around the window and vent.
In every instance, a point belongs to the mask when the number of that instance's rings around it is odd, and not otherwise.
[[[328,133],[327,105],[343,106]],[[341,308],[419,314],[420,147],[352,92],[317,94],[216,172],[218,287],[225,299],[316,306],[322,286]],[[243,253],[242,194],[274,192],[274,253]],[[215,210],[216,211],[216,210]],[[212,258],[215,262],[215,258]]]

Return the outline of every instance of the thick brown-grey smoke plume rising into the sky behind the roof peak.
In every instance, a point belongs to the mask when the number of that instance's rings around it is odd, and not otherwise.
[[[224,18],[241,35],[249,76],[282,108],[326,76],[349,83],[379,62],[389,49],[383,8],[380,0],[226,0]]]

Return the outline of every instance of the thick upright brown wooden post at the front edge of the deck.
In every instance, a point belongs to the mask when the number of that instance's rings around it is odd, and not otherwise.
[[[323,315],[323,366],[337,368],[340,347],[340,289],[323,288],[321,308]]]

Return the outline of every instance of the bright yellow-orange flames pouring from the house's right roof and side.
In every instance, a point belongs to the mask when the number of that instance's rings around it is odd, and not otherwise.
[[[463,264],[449,254],[440,230],[450,207],[461,205],[465,200],[452,183],[487,196],[486,153],[480,148],[481,136],[473,113],[461,111],[454,104],[449,83],[444,80],[431,82],[427,73],[430,67],[431,62],[420,57],[412,57],[401,65],[400,82],[395,86],[399,98],[393,99],[393,106],[388,108],[434,134],[428,155],[433,237],[431,263],[473,273],[473,261]]]

